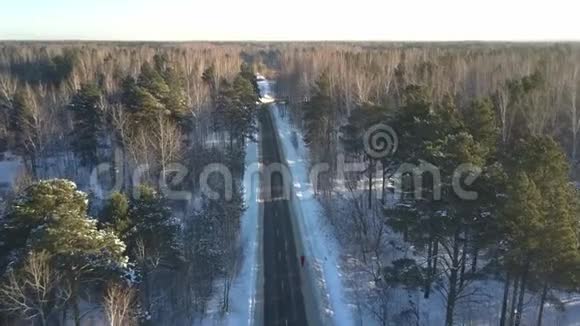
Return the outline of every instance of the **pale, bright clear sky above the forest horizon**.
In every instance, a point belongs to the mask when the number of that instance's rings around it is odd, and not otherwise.
[[[580,40],[578,0],[0,0],[0,40]]]

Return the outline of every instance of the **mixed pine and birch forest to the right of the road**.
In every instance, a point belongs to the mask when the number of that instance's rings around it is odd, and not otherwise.
[[[579,54],[576,44],[282,51],[279,93],[311,164],[330,163],[313,183],[356,258],[346,269],[358,309],[382,325],[430,324],[436,292],[445,325],[540,325],[547,304],[578,291]],[[380,157],[365,147],[376,126],[389,133],[374,145],[396,147]],[[345,174],[345,161],[365,168]]]

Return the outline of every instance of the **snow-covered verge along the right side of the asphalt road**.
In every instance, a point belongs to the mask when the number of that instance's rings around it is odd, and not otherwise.
[[[345,302],[342,284],[340,246],[323,220],[322,207],[314,197],[309,180],[308,152],[302,136],[283,117],[277,105],[274,104],[271,108],[281,150],[294,181],[295,198],[291,202],[306,257],[305,268],[309,268],[316,278],[313,281],[318,291],[313,292],[318,302],[323,304],[321,310],[325,314],[324,324],[353,325],[352,309]]]

